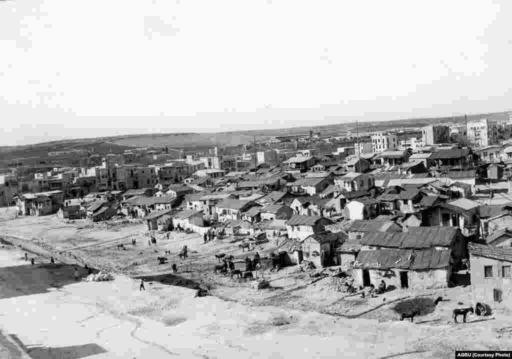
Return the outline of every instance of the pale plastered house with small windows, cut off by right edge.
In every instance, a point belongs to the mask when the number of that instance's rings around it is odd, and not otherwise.
[[[512,249],[471,243],[473,304],[485,303],[492,309],[512,309]]]

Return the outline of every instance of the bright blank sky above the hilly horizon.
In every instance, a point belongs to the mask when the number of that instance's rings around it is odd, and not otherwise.
[[[0,145],[512,110],[512,2],[0,1]]]

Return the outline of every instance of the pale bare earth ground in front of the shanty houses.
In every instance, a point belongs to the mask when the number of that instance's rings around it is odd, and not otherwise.
[[[19,248],[0,248],[0,330],[15,334],[33,358],[451,358],[458,348],[512,349],[509,313],[450,323],[453,308],[471,305],[469,287],[394,290],[362,299],[336,291],[330,277],[310,284],[307,272],[289,267],[265,271],[271,288],[254,290],[250,281],[212,272],[220,251],[240,260],[247,255],[229,240],[203,244],[196,234],[172,233],[148,246],[144,224],[91,228],[54,216],[11,220],[4,210],[0,234],[41,254],[29,253],[36,260],[31,266]],[[117,250],[119,243],[127,249]],[[183,244],[189,258],[180,261]],[[264,256],[273,245],[257,250]],[[165,250],[172,252],[169,263],[158,265]],[[58,264],[49,264],[50,255]],[[119,274],[113,282],[75,282],[73,266],[61,262]],[[172,263],[177,274],[170,273]],[[148,280],[145,292],[139,291],[140,277]],[[211,295],[194,298],[199,284]],[[429,308],[438,295],[444,300]],[[424,301],[425,309],[415,323],[399,321],[394,306],[411,300]]]

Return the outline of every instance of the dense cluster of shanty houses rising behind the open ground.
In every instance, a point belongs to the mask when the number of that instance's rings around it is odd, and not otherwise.
[[[237,171],[214,168],[217,153],[149,167],[106,159],[91,174],[105,184],[98,191],[80,182],[88,176],[78,176],[77,198],[56,189],[15,200],[21,215],[123,216],[140,218],[148,230],[265,237],[275,240],[286,263],[339,265],[360,286],[385,280],[402,288],[445,287],[471,270],[473,284],[494,285],[501,303],[512,293],[512,206],[482,205],[475,186],[503,178],[506,166],[497,161],[512,158],[512,150],[472,151],[446,140],[451,132],[442,126],[425,128],[414,150],[378,133],[352,155],[304,150],[275,164],[279,156],[269,150]],[[490,300],[488,291],[476,295]]]

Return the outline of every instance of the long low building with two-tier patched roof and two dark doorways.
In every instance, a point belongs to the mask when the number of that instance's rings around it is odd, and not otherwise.
[[[404,233],[375,232],[361,240],[353,265],[357,285],[378,286],[381,280],[398,288],[444,288],[453,268],[467,257],[460,230],[443,227],[410,228]]]

